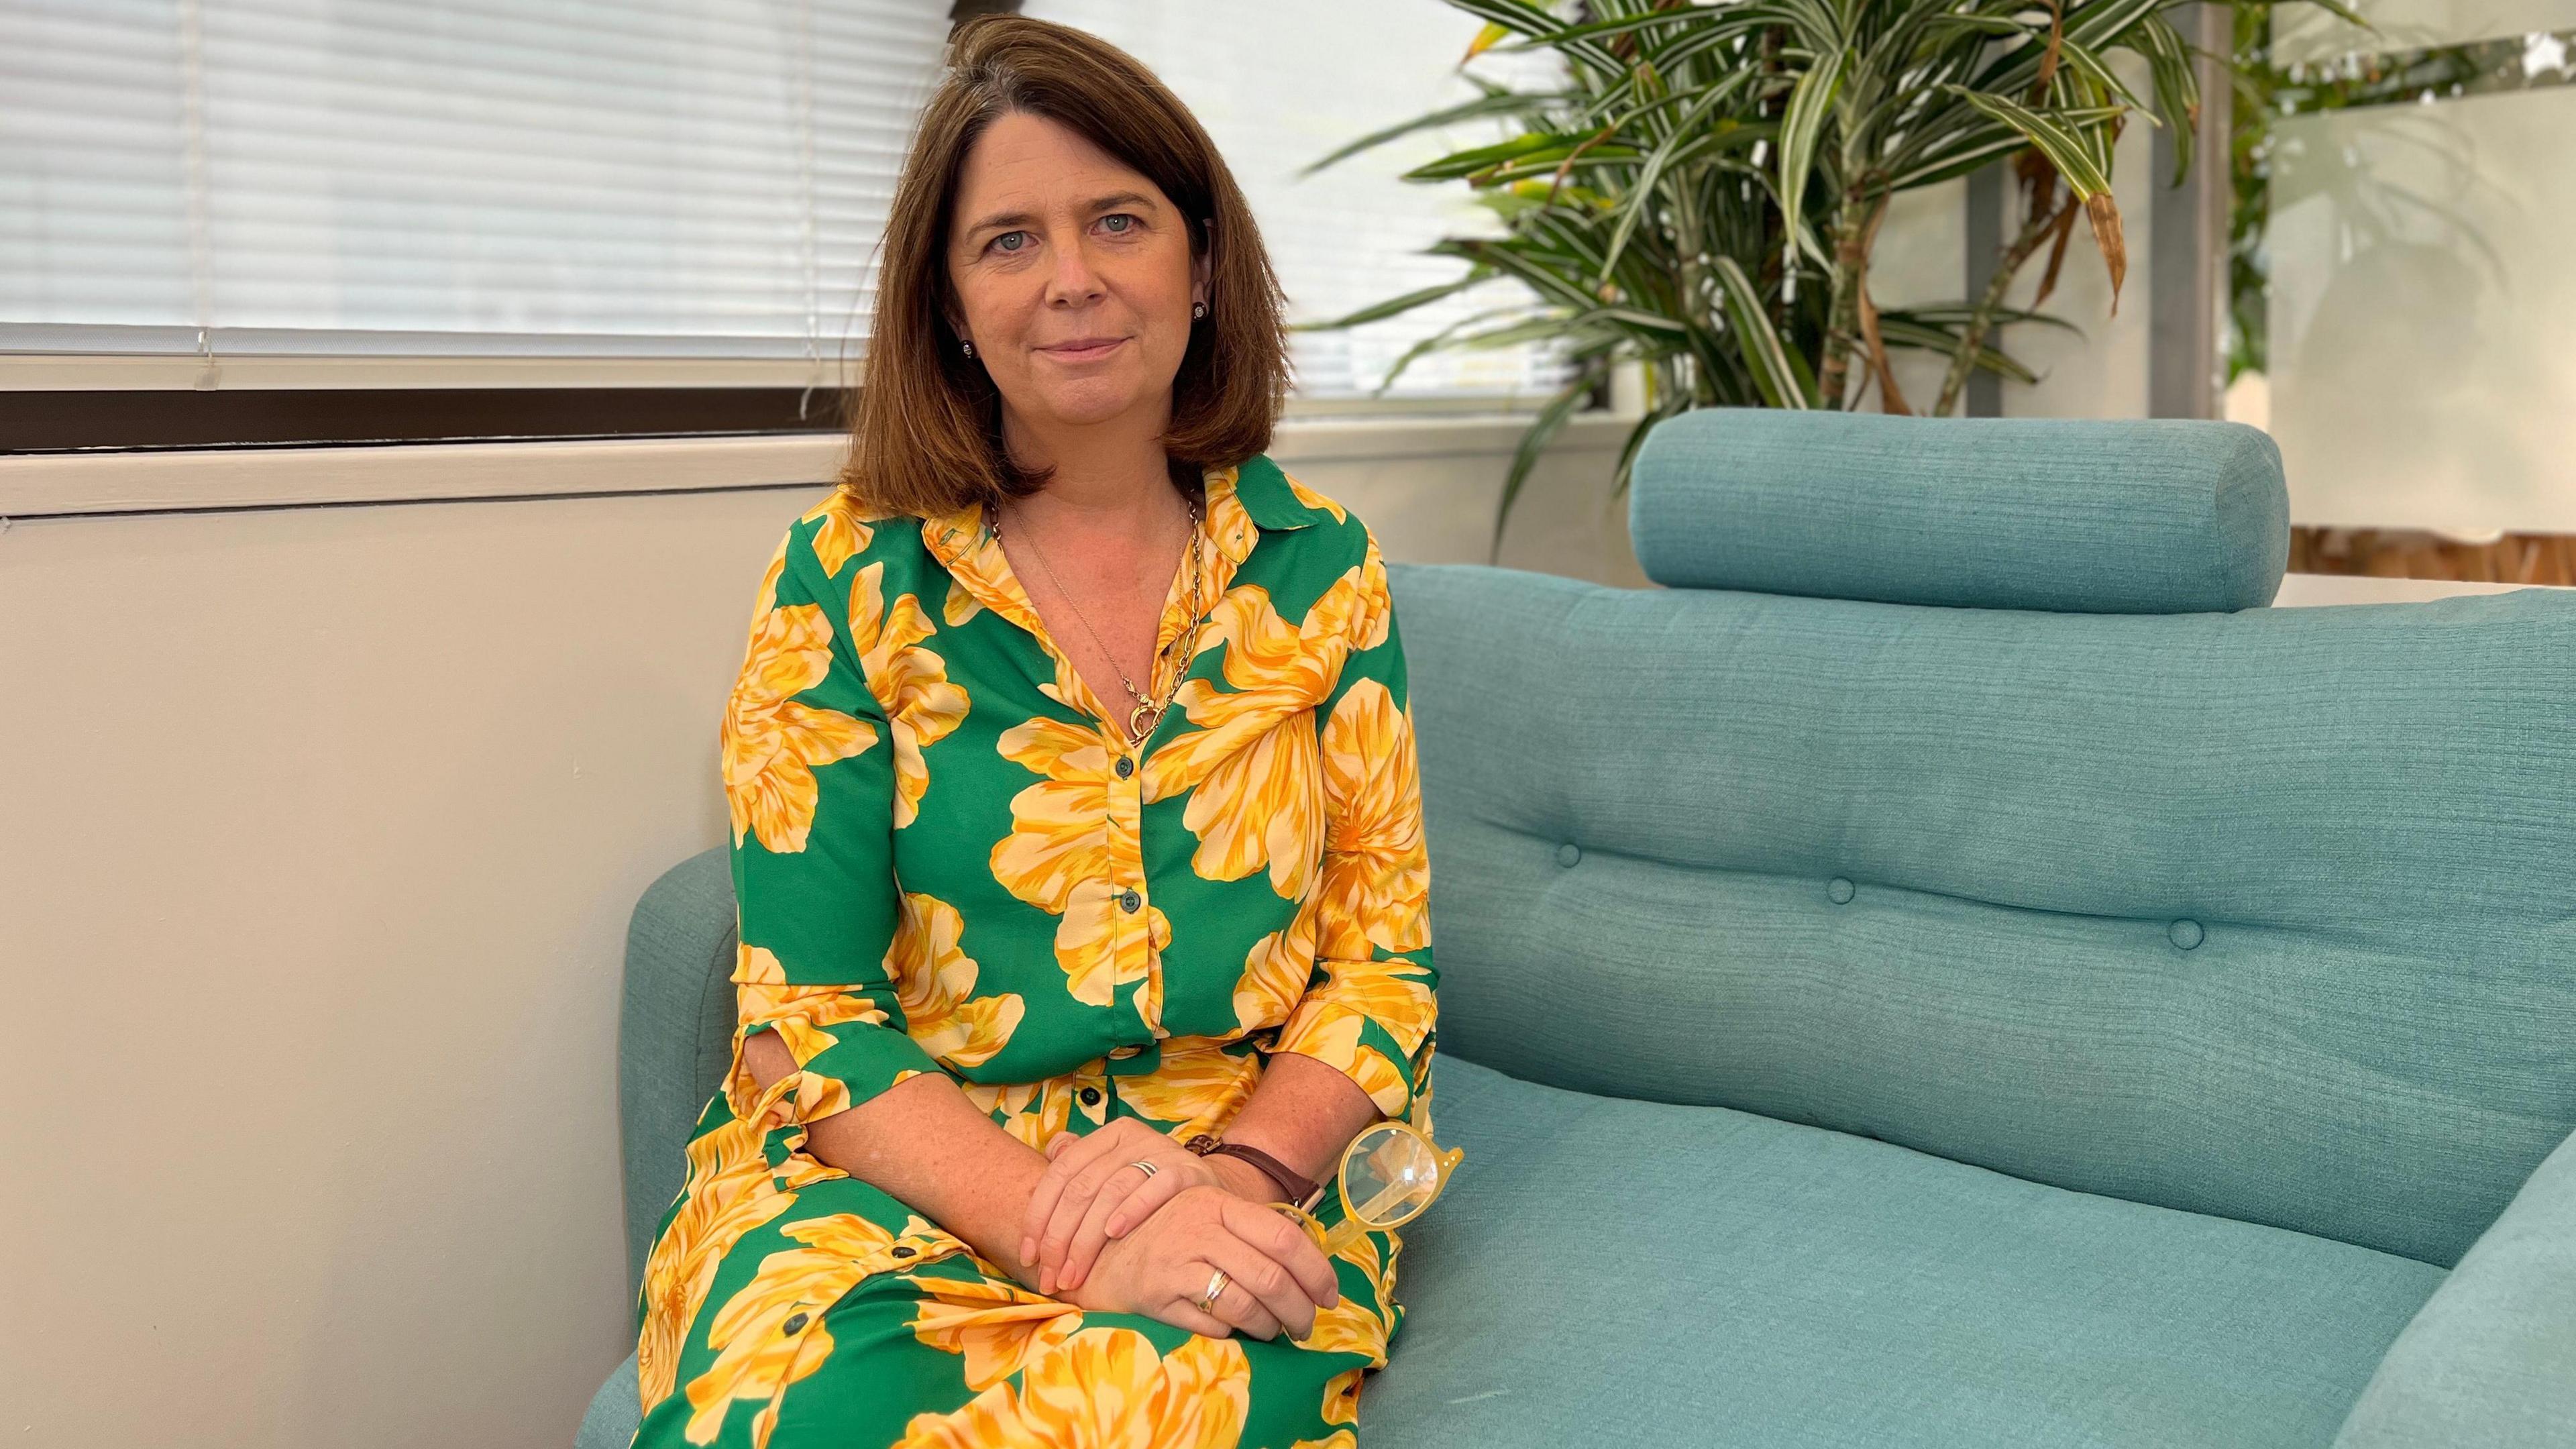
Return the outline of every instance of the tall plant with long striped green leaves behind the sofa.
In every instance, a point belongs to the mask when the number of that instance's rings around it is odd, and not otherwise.
[[[1571,18],[1528,0],[1448,0],[1486,21],[1461,67],[1486,52],[1551,49],[1561,85],[1512,90],[1468,75],[1481,95],[1360,137],[1321,170],[1396,137],[1476,119],[1520,134],[1445,155],[1406,180],[1463,180],[1502,237],[1427,248],[1468,271],[1311,330],[1376,322],[1494,278],[1535,294],[1471,315],[1406,351],[1417,356],[1553,340],[1574,379],[1535,415],[1504,477],[1502,523],[1538,454],[1574,405],[1623,361],[1643,364],[1646,410],[1620,449],[1628,485],[1638,441],[1687,407],[1855,407],[1909,413],[1888,353],[1947,356],[1929,413],[1955,410],[1973,369],[2022,382],[1994,345],[2025,266],[2045,255],[2040,302],[2081,219],[2110,266],[2112,304],[2128,271],[2110,193],[2112,142],[2130,113],[2174,129],[2174,180],[2192,165],[2200,106],[2192,52],[2164,10],[2182,0],[1592,0]],[[2339,8],[2336,0],[2318,0]],[[2133,90],[2112,57],[2143,57]],[[1986,165],[2012,165],[2025,222],[1994,284],[1950,307],[1880,309],[1870,258],[1888,201]]]

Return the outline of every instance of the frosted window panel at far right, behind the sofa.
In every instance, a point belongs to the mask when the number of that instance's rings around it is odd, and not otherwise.
[[[2241,13],[2228,415],[2306,567],[2576,583],[2576,0],[2362,13]]]

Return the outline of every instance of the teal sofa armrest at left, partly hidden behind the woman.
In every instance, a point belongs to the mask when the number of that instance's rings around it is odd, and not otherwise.
[[[644,887],[626,926],[618,1000],[618,1150],[626,1292],[688,1176],[688,1134],[734,1057],[734,871],[719,846]]]

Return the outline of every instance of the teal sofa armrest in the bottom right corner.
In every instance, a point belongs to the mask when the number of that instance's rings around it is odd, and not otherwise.
[[[2380,1359],[2334,1449],[2576,1441],[2576,1137],[2522,1183]]]

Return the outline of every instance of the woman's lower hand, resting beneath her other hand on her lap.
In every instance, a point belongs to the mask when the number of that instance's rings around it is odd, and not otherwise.
[[[1226,1292],[1216,1312],[1203,1312],[1216,1269]],[[1100,1248],[1090,1276],[1059,1302],[1095,1312],[1146,1318],[1226,1338],[1236,1328],[1255,1338],[1314,1336],[1314,1310],[1342,1302],[1332,1261],[1288,1214],[1221,1186],[1190,1186],[1154,1209],[1123,1238]]]

